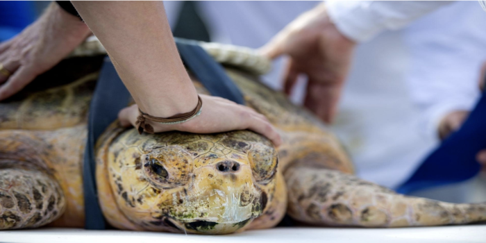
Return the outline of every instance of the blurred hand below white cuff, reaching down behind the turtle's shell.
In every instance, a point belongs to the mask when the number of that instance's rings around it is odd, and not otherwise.
[[[305,74],[308,87],[304,105],[330,123],[355,45],[337,30],[321,4],[287,25],[260,51],[272,59],[290,56],[283,81],[285,92],[289,94],[298,76]]]

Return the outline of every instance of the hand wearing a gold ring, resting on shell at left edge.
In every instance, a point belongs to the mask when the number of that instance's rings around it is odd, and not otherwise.
[[[0,44],[0,101],[51,69],[90,33],[78,17],[51,3],[22,33]]]

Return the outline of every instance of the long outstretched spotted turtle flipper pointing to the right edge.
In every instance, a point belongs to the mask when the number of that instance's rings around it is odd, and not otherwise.
[[[290,216],[309,224],[362,227],[439,226],[486,221],[486,203],[444,203],[404,196],[340,171],[285,171]]]

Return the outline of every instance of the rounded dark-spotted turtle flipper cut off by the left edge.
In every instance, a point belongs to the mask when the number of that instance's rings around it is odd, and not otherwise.
[[[0,160],[0,230],[37,228],[58,219],[65,210],[57,181],[22,164]]]

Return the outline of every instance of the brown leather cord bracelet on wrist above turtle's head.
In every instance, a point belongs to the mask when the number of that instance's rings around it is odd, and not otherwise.
[[[194,117],[197,117],[201,115],[201,110],[203,108],[203,101],[201,100],[201,97],[199,95],[197,96],[197,106],[194,108],[194,110],[178,115],[173,115],[171,117],[153,117],[142,110],[138,108],[138,111],[140,112],[140,115],[137,117],[137,121],[135,121],[135,127],[137,128],[137,131],[139,134],[142,134],[144,131],[146,133],[153,133],[153,127],[150,124],[146,123],[146,120],[150,121],[155,121],[160,124],[164,125],[171,125],[171,124],[181,124],[185,121],[189,121],[190,119],[193,119]]]

